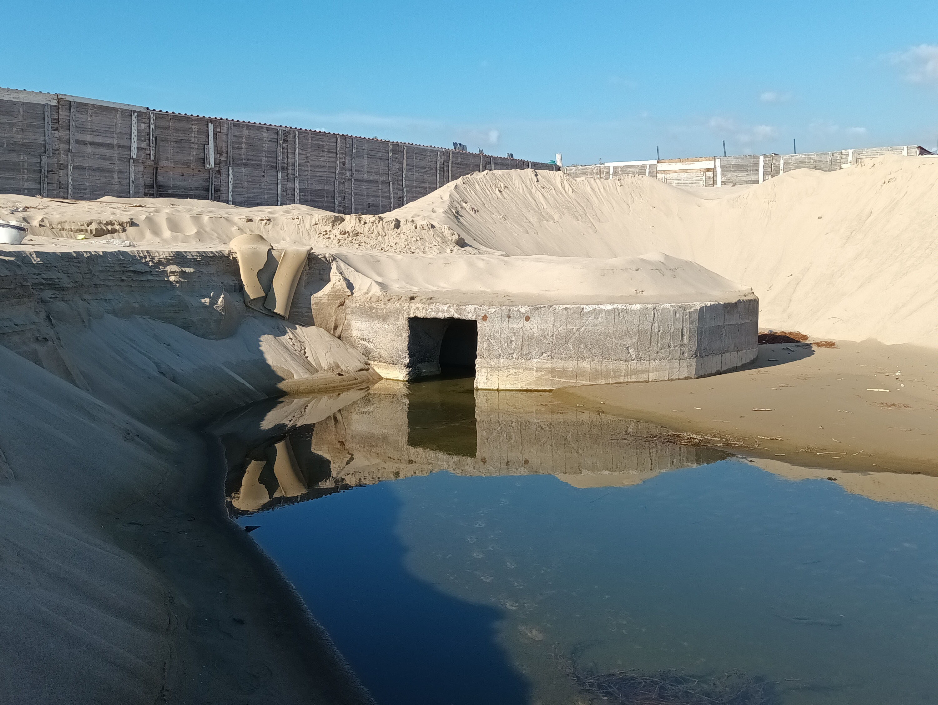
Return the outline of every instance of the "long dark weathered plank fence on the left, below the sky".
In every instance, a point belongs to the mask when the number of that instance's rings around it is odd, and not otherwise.
[[[0,193],[376,214],[467,173],[554,164],[0,88]]]

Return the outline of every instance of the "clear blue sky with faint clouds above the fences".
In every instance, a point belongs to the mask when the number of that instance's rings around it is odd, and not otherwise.
[[[565,163],[722,140],[938,145],[934,0],[8,0],[4,15],[0,85],[180,113]]]

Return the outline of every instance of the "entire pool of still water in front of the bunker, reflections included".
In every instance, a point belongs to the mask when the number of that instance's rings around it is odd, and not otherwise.
[[[232,511],[379,703],[667,669],[764,683],[740,703],[938,700],[929,508],[471,381],[301,401],[216,429]]]

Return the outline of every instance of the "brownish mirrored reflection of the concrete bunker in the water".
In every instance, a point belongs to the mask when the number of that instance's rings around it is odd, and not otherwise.
[[[635,485],[726,457],[675,443],[654,424],[572,410],[546,393],[473,393],[471,383],[383,382],[223,419],[213,430],[229,458],[234,512],[438,470],[554,474],[586,488]]]

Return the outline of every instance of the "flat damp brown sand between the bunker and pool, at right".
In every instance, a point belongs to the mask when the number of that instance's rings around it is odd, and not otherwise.
[[[762,463],[766,469],[784,463],[938,476],[938,352],[913,345],[761,345],[757,360],[735,372],[554,395],[578,408],[701,434],[707,444],[781,461]],[[938,493],[935,500],[938,505]]]

